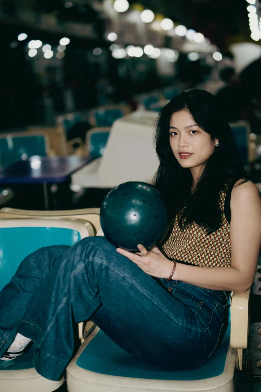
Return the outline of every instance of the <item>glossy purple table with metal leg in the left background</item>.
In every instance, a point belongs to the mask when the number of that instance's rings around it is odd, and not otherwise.
[[[65,157],[33,156],[0,170],[0,184],[43,184],[45,209],[49,208],[47,183],[61,183],[72,173],[89,163],[90,157],[68,155]]]

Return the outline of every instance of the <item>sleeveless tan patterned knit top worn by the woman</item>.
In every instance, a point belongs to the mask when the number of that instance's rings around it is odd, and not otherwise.
[[[230,267],[230,198],[233,185],[234,182],[229,190],[220,192],[222,221],[219,229],[213,233],[207,235],[207,230],[195,222],[181,231],[177,213],[171,234],[161,245],[166,257],[200,267]],[[228,214],[225,211],[226,206],[229,209]]]

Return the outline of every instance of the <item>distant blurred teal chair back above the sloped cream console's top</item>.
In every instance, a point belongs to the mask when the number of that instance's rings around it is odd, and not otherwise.
[[[105,105],[91,109],[89,123],[97,127],[110,127],[115,120],[130,112],[127,105]]]

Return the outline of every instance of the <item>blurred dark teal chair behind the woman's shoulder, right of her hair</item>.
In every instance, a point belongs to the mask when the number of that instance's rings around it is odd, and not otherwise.
[[[254,162],[256,155],[256,135],[251,133],[250,124],[240,120],[229,123],[233,131],[244,166]]]

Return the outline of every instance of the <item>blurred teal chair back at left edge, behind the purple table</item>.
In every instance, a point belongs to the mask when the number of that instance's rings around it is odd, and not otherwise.
[[[24,132],[0,134],[0,167],[6,168],[13,163],[33,155],[45,157],[50,153],[48,135],[45,133],[26,134]]]

